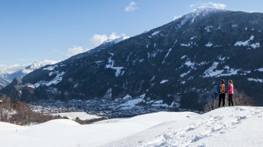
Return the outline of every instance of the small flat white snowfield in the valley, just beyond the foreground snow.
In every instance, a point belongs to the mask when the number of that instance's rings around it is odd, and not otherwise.
[[[79,118],[79,120],[93,120],[96,118],[101,118],[100,116],[91,115],[86,112],[52,113],[51,115],[67,117],[70,120],[75,120],[76,118]]]

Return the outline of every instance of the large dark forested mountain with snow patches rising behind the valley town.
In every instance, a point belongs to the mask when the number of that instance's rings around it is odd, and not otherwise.
[[[263,106],[262,23],[263,13],[198,9],[90,55],[28,73],[23,84],[34,90],[22,92],[22,100],[96,99],[101,106],[120,103],[112,110],[118,112],[156,106],[202,110],[224,78]]]

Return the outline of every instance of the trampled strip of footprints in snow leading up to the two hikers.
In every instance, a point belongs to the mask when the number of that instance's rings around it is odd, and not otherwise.
[[[212,113],[215,114],[215,112],[226,111],[227,109],[219,109]],[[236,107],[234,109],[235,111],[225,113],[223,116],[205,115],[207,117],[195,120],[195,122],[186,125],[186,127],[182,129],[171,129],[168,132],[160,134],[153,141],[141,144],[141,146],[205,146],[205,143],[202,143],[202,139],[225,134],[236,128],[237,125],[240,125],[243,121],[253,116],[262,117],[263,115],[262,108],[250,110]]]

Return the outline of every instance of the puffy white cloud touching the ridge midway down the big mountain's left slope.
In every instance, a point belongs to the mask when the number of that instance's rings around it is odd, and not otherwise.
[[[126,36],[125,34],[117,35],[116,32],[111,33],[109,36],[106,34],[94,34],[94,36],[90,39],[90,42],[94,47],[101,45],[103,42],[110,40],[114,40],[116,38],[120,38],[122,36]]]

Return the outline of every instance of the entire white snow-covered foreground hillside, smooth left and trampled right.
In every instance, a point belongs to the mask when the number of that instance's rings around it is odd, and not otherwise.
[[[203,115],[159,112],[112,123],[51,120],[21,127],[0,123],[1,146],[262,146],[263,108],[228,107]],[[15,139],[15,141],[11,141]]]

